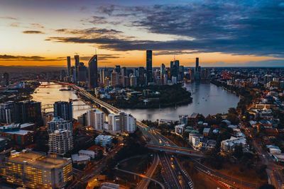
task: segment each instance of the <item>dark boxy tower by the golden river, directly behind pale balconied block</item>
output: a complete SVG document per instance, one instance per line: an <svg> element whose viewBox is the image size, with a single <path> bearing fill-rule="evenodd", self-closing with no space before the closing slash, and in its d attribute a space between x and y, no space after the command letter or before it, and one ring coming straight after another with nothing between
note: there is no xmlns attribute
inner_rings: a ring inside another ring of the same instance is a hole
<svg viewBox="0 0 284 189"><path fill-rule="evenodd" d="M63 120L73 119L73 110L71 102L58 101L53 104L54 117L62 118Z"/></svg>

